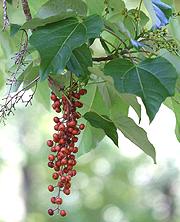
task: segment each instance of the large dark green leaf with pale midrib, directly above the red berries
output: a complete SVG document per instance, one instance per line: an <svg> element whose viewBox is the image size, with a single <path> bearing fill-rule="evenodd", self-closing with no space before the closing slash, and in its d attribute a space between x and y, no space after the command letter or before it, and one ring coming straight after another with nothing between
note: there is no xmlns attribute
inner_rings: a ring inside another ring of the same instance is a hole
<svg viewBox="0 0 180 222"><path fill-rule="evenodd" d="M86 27L76 18L65 19L34 31L30 44L39 51L41 57L41 80L46 79L50 73L63 72L72 51L86 40Z"/></svg>

